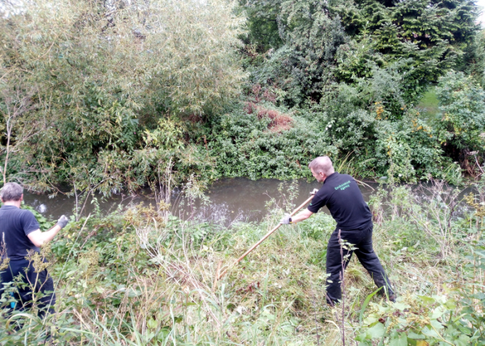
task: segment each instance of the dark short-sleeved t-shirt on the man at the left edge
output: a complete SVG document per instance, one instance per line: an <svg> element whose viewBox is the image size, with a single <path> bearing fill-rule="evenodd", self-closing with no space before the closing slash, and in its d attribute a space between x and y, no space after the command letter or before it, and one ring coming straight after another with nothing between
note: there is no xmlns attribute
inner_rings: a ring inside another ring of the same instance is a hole
<svg viewBox="0 0 485 346"><path fill-rule="evenodd" d="M30 210L19 209L16 206L0 208L0 246L3 246L3 242L6 243L10 260L24 259L30 249L39 251L27 237L39 228L39 223Z"/></svg>

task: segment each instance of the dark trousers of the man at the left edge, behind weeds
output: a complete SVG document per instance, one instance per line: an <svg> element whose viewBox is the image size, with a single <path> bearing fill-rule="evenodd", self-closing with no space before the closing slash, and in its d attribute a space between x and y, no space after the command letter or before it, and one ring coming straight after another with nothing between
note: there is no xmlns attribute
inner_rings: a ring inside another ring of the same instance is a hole
<svg viewBox="0 0 485 346"><path fill-rule="evenodd" d="M18 284L15 286L14 298L17 300L15 310L24 311L30 309L33 303L33 289L35 293L42 292L40 298L36 301L39 308L39 317L44 317L46 309L53 313L55 304L54 282L47 270L35 273L35 268L28 265L28 260L10 260L10 267L0 273L0 296L4 291L3 284L13 282L14 277L19 274L25 285Z"/></svg>

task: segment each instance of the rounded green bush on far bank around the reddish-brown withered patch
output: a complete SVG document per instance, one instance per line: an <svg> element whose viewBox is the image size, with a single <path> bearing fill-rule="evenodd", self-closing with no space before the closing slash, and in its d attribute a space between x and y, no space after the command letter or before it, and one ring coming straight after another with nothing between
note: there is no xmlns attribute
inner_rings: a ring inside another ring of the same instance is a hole
<svg viewBox="0 0 485 346"><path fill-rule="evenodd" d="M309 161L316 156L337 154L329 144L328 134L319 131L317 120L306 120L295 111L285 115L293 119L291 125L274 127L274 120L267 114L280 113L283 117L285 110L271 110L269 104L258 104L253 112L243 104L238 106L220 117L208 137L220 176L310 178L306 167Z"/></svg>

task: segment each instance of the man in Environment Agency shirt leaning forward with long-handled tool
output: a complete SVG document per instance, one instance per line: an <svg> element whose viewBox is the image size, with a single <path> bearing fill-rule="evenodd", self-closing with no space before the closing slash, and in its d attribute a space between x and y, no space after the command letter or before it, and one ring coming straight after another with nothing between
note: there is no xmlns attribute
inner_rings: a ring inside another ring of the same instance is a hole
<svg viewBox="0 0 485 346"><path fill-rule="evenodd" d="M389 278L380 264L379 258L372 248L372 214L369 206L362 197L355 179L348 174L335 172L332 161L328 156L315 158L308 165L313 176L319 183L324 183L320 190L315 193L312 203L306 210L299 212L294 217L289 214L281 219L281 224L294 224L308 219L324 206L330 210L330 215L337 221L337 228L330 235L326 255L327 278L327 302L334 305L342 299L340 277L342 273L342 255L340 254L340 238L352 244L355 250L344 249L344 268L349 264L353 253L357 255L362 266L367 269L380 291L387 294L389 300L394 301L394 291L391 288Z"/></svg>

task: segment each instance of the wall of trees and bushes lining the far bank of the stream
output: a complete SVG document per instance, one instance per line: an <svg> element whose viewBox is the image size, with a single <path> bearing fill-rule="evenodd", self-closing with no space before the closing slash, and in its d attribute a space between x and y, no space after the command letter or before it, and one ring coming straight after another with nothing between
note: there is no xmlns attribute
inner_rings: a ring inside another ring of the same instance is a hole
<svg viewBox="0 0 485 346"><path fill-rule="evenodd" d="M79 199L157 181L304 177L322 154L373 179L482 174L473 1L9 4L3 181ZM430 86L433 115L415 106Z"/></svg>

